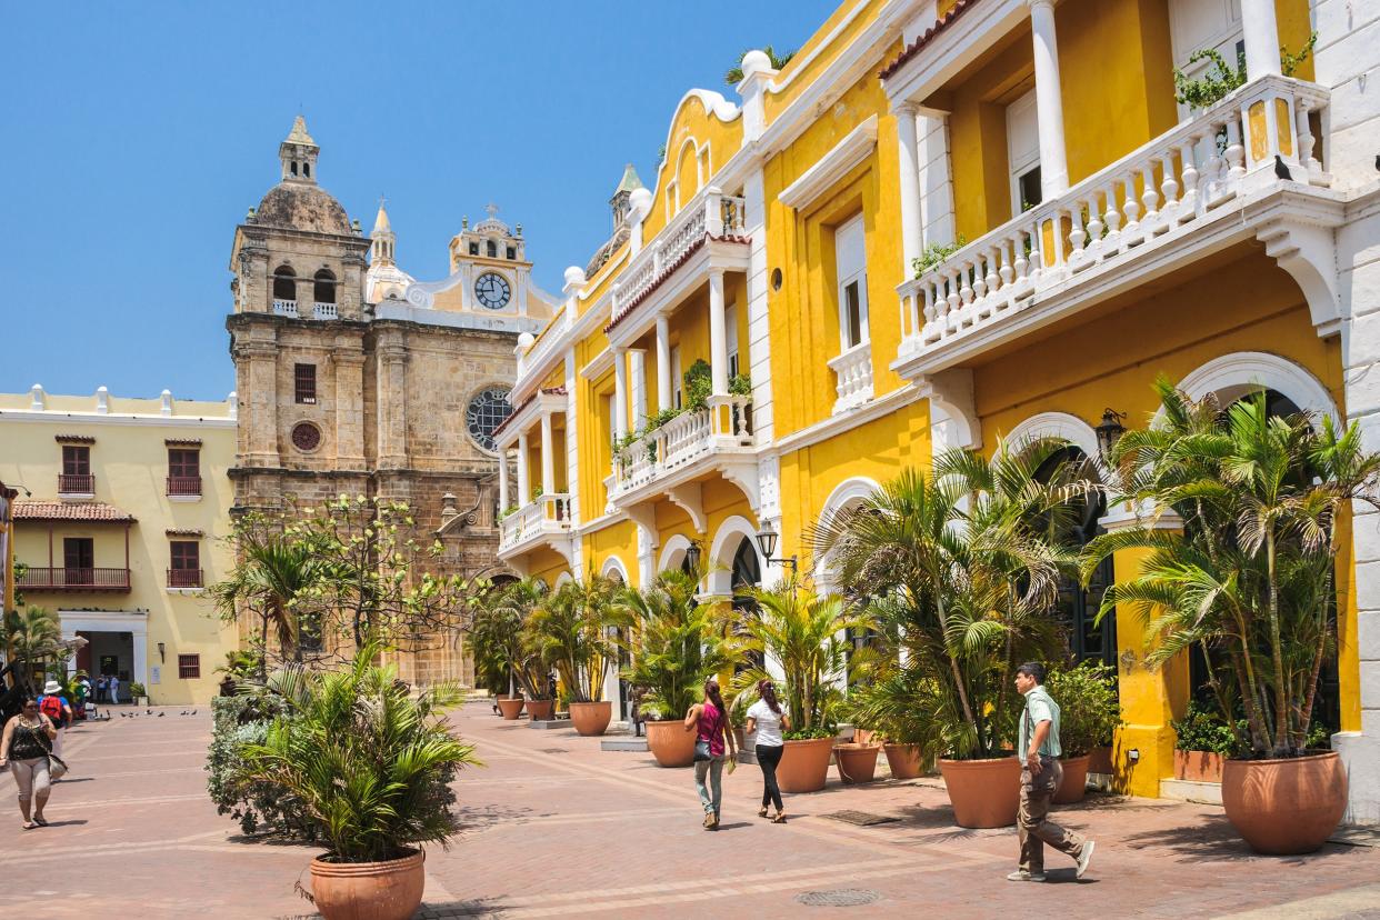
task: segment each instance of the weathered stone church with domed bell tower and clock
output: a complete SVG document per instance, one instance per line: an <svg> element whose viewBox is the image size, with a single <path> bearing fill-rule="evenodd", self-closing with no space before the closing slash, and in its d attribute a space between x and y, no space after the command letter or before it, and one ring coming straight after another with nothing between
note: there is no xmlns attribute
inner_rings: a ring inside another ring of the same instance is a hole
<svg viewBox="0 0 1380 920"><path fill-rule="evenodd" d="M298 117L279 183L235 229L235 510L341 492L406 501L447 572L501 574L491 434L511 412L518 337L555 298L531 284L522 229L493 210L450 241L447 279L414 281L382 204L366 239L317 183L319 153ZM404 679L468 681L458 640L404 657Z"/></svg>

